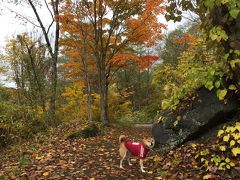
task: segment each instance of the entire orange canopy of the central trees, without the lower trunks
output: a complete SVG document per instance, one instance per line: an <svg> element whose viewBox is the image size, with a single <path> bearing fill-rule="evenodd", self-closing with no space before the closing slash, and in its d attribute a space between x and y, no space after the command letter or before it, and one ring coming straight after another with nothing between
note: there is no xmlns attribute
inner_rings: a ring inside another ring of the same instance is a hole
<svg viewBox="0 0 240 180"><path fill-rule="evenodd" d="M99 6L100 2L102 6ZM158 15L165 12L164 2L165 0L96 0L95 8L98 19L96 23L104 27L102 34L99 34L103 37L101 43L103 45L109 43L103 46L107 47L106 52L104 52L107 68L110 66L126 68L128 62L132 62L137 64L139 69L146 69L158 59L155 56L139 57L126 50L128 49L126 47L132 44L149 47L163 38L161 31L165 26L158 21ZM63 52L70 57L68 64L63 65L63 69L69 71L66 77L76 76L76 73L79 73L79 69L83 66L81 60L86 59L90 71L97 72L93 56L94 50L96 50L94 49L96 48L94 46L95 29L91 23L91 19L94 18L94 6L92 1L88 2L89 8L83 4L74 4L71 0L65 0L60 15L61 31L64 34L61 45ZM107 7L106 12L100 15L99 7L104 6ZM136 14L133 13L129 16L129 13L134 12L135 9ZM118 14L114 18L109 12ZM100 16L102 19L99 18ZM99 51L103 50L103 47L99 47ZM117 51L115 51L116 49ZM99 55L102 57L101 52Z"/></svg>

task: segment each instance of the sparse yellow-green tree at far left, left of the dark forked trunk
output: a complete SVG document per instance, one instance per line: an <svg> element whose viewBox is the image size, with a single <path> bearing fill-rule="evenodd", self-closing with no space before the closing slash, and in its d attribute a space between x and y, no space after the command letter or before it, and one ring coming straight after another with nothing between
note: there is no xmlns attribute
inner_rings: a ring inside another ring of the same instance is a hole
<svg viewBox="0 0 240 180"><path fill-rule="evenodd" d="M19 103L35 109L40 106L45 112L49 58L41 39L34 40L26 33L18 35L9 40L2 58L10 65Z"/></svg>

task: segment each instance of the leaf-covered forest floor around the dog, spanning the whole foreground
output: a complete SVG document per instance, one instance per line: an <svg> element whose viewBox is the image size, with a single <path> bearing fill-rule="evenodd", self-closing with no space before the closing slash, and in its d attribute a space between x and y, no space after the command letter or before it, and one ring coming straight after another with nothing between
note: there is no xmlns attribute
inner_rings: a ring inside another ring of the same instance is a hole
<svg viewBox="0 0 240 180"><path fill-rule="evenodd" d="M0 179L231 179L228 174L209 174L199 167L194 158L199 146L190 143L164 155L151 151L144 162L146 173L140 171L134 157L132 166L125 162L125 169L120 169L119 135L140 141L151 134L149 128L107 128L97 137L64 140L77 127L62 127L2 152Z"/></svg>

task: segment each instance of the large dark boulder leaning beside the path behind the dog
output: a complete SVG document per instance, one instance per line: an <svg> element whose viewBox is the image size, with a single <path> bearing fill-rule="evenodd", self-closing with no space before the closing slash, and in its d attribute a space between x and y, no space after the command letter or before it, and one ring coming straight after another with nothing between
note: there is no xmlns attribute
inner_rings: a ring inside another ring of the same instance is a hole
<svg viewBox="0 0 240 180"><path fill-rule="evenodd" d="M237 98L220 101L214 91L200 88L187 108L167 112L153 124L156 146L161 152L170 150L230 120L238 108Z"/></svg>

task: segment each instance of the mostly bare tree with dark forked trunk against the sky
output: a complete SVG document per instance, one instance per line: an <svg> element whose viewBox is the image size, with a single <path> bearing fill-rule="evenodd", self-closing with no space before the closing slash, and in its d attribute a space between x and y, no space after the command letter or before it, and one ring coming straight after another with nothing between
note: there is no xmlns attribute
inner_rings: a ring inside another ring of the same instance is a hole
<svg viewBox="0 0 240 180"><path fill-rule="evenodd" d="M20 13L11 10L11 12L15 13L18 17L26 22L32 23L33 26L40 28L46 42L46 46L48 49L48 53L50 55L50 91L49 91L49 108L48 108L48 116L47 123L54 124L55 123L55 110L56 110L56 93L57 93L57 62L58 62L58 54L59 54L59 5L60 0L7 0L8 3L14 3L16 5L27 5L30 6L34 16L36 18L36 22L32 20L32 18L28 18L22 16ZM51 21L49 25L44 22L43 17L40 16L39 10L41 7L46 7L49 12L49 20ZM53 37L52 37L53 36Z"/></svg>

